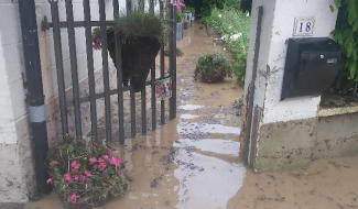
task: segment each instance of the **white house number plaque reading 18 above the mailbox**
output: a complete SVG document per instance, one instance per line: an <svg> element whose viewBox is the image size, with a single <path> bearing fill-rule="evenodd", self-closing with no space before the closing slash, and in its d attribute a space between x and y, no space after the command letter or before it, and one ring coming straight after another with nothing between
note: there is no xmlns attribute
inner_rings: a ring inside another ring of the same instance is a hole
<svg viewBox="0 0 358 209"><path fill-rule="evenodd" d="M313 36L315 18L295 18L293 36Z"/></svg>

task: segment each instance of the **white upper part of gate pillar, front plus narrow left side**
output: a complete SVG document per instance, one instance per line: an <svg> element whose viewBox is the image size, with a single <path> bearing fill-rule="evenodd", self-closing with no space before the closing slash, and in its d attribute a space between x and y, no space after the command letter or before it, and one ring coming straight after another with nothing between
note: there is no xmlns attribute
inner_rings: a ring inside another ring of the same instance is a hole
<svg viewBox="0 0 358 209"><path fill-rule="evenodd" d="M295 18L315 18L313 37L328 36L335 28L337 10L330 11L334 0L253 0L249 57L245 92L251 80L253 65L257 9L263 6L261 47L256 81L254 106L263 108L262 123L285 122L315 118L321 97L280 101L286 40L293 37Z"/></svg>

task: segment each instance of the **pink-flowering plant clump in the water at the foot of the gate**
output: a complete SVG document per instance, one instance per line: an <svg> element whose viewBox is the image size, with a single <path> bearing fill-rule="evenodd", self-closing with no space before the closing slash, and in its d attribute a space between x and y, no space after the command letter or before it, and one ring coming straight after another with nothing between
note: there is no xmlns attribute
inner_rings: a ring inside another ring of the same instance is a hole
<svg viewBox="0 0 358 209"><path fill-rule="evenodd" d="M65 204L96 206L127 191L123 164L109 145L64 139L48 151L47 162L47 183Z"/></svg>

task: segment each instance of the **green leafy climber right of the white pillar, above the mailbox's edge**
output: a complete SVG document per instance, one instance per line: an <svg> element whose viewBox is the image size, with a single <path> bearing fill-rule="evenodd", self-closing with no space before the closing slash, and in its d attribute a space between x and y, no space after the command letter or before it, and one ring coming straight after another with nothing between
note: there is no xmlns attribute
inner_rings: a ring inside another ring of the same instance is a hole
<svg viewBox="0 0 358 209"><path fill-rule="evenodd" d="M338 18L335 30L332 32L334 40L341 46L345 67L350 80L358 81L358 1L335 0ZM334 6L330 6L334 11Z"/></svg>

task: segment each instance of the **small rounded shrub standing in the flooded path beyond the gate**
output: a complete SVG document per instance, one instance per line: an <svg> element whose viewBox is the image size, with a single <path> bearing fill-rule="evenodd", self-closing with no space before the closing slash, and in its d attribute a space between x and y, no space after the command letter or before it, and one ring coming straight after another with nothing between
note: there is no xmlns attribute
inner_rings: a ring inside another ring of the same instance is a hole
<svg viewBox="0 0 358 209"><path fill-rule="evenodd" d="M219 82L231 77L232 70L221 54L207 54L198 59L194 76L204 82Z"/></svg>

